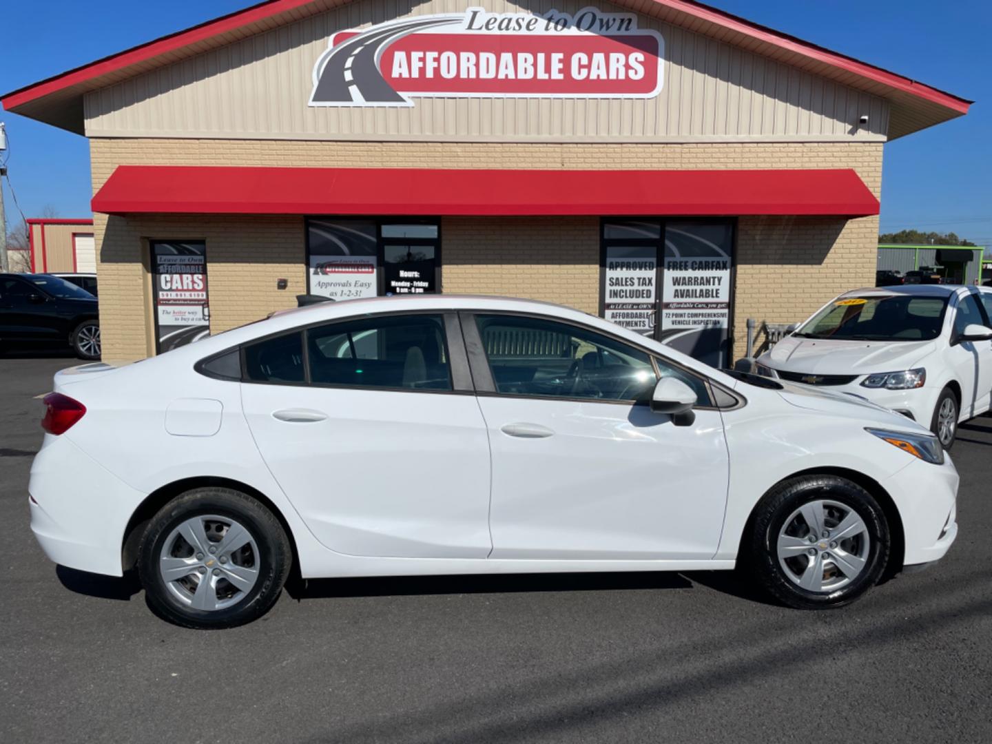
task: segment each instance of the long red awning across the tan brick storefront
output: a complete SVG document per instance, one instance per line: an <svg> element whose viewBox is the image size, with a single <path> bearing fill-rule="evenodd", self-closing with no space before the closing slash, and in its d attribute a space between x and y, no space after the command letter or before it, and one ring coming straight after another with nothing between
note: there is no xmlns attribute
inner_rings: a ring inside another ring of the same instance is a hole
<svg viewBox="0 0 992 744"><path fill-rule="evenodd" d="M878 214L851 170L495 171L120 166L107 214Z"/></svg>

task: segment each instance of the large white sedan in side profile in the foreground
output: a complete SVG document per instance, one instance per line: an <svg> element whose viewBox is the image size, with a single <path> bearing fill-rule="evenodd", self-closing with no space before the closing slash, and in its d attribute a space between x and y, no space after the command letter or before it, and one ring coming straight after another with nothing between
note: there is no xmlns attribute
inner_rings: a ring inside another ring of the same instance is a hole
<svg viewBox="0 0 992 744"><path fill-rule="evenodd" d="M160 615L249 622L303 577L745 567L798 608L941 558L939 440L576 310L322 304L59 373L31 469L49 558Z"/></svg>

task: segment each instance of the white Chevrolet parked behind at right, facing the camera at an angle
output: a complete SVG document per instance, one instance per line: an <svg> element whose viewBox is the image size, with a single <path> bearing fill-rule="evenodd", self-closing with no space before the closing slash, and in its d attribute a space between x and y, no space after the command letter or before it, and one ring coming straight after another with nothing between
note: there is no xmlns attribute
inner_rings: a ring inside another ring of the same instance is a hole
<svg viewBox="0 0 992 744"><path fill-rule="evenodd" d="M954 442L992 404L992 288L909 285L848 292L758 363L781 380L867 398Z"/></svg>

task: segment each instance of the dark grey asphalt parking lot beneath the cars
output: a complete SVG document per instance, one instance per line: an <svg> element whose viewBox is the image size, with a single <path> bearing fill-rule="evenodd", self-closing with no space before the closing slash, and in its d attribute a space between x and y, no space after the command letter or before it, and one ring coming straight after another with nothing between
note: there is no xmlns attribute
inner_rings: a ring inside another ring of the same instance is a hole
<svg viewBox="0 0 992 744"><path fill-rule="evenodd" d="M347 579L197 632L31 535L36 397L74 363L0 358L0 741L992 740L992 418L947 558L849 608L719 573Z"/></svg>

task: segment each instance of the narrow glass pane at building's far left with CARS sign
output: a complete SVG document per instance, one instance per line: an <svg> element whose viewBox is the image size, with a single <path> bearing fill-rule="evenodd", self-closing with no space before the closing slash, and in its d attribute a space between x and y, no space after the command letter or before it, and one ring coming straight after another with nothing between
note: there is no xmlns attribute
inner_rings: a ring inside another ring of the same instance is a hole
<svg viewBox="0 0 992 744"><path fill-rule="evenodd" d="M206 245L154 242L152 271L159 353L209 335Z"/></svg>

